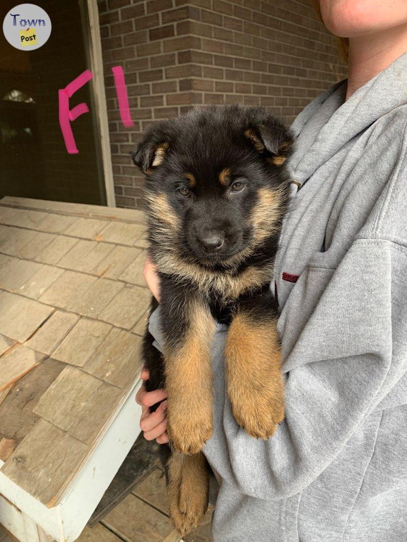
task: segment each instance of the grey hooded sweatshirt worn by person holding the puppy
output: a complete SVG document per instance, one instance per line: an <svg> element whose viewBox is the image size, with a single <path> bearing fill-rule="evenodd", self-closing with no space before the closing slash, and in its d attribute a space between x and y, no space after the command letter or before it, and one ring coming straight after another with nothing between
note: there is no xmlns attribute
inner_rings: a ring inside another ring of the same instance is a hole
<svg viewBox="0 0 407 542"><path fill-rule="evenodd" d="M302 188L275 265L286 419L268 441L232 416L218 326L216 542L407 540L407 54L345 93L292 127ZM160 347L159 309L150 330Z"/></svg>

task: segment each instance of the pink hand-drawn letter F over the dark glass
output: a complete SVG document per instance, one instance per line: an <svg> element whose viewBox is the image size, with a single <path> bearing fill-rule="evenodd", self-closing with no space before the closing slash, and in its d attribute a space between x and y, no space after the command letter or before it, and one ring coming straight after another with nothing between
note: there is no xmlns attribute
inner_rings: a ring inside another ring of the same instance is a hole
<svg viewBox="0 0 407 542"><path fill-rule="evenodd" d="M91 70L87 69L85 72L78 75L76 79L71 81L65 88L58 91L60 127L69 154L79 153L76 148L75 138L70 123L83 113L89 112L89 108L85 102L76 105L73 109L69 109L69 98L72 98L75 92L86 85L92 78L93 73Z"/></svg>

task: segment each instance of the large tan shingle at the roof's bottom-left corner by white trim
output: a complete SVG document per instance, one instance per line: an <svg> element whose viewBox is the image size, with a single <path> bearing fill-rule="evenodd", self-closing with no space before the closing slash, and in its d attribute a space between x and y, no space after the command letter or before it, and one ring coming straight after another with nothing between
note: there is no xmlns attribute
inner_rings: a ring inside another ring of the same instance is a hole
<svg viewBox="0 0 407 542"><path fill-rule="evenodd" d="M87 450L86 444L41 418L1 471L35 499L53 507Z"/></svg>

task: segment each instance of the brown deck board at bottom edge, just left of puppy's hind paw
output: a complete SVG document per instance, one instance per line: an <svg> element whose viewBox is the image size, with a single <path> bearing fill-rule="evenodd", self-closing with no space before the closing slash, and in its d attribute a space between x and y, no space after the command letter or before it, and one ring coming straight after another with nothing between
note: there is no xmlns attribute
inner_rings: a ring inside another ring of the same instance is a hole
<svg viewBox="0 0 407 542"><path fill-rule="evenodd" d="M113 508L101 523L132 542L163 542L173 534L172 525L166 515L132 494L127 495Z"/></svg>

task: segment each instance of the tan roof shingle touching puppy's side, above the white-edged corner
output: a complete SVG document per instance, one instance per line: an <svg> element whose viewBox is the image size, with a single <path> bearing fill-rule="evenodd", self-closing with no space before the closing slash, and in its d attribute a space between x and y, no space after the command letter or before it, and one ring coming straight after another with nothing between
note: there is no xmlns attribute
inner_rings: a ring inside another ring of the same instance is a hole
<svg viewBox="0 0 407 542"><path fill-rule="evenodd" d="M140 343L138 335L114 327L83 369L109 384L124 388L140 375Z"/></svg>

